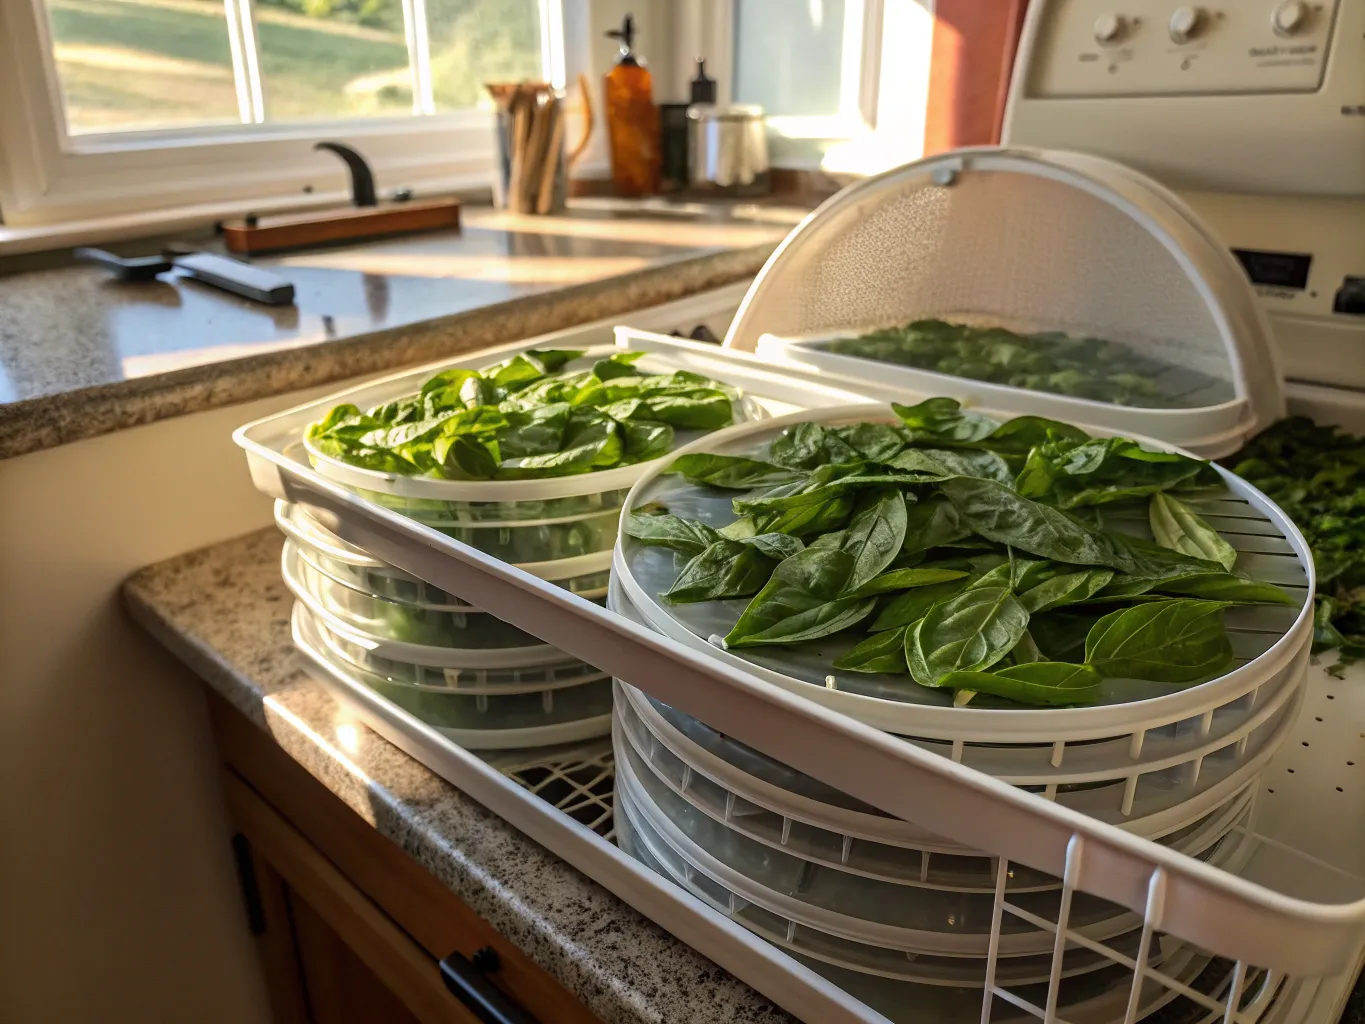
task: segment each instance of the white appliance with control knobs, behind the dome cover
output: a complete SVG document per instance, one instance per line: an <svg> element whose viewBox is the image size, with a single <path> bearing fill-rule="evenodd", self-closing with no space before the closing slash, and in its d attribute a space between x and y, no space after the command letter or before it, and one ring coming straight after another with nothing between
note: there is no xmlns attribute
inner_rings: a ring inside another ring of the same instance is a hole
<svg viewBox="0 0 1365 1024"><path fill-rule="evenodd" d="M1005 142L1177 190L1256 285L1290 410L1365 429L1365 0L1033 0Z"/></svg>

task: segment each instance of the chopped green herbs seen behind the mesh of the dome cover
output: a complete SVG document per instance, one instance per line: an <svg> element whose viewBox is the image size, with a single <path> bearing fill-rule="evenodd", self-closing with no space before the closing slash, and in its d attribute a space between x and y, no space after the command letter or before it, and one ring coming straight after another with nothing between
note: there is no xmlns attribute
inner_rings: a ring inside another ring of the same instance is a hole
<svg viewBox="0 0 1365 1024"><path fill-rule="evenodd" d="M1127 345L1061 332L1017 335L942 319L838 339L827 351L1010 388L1147 408L1201 404L1212 377L1138 355Z"/></svg>

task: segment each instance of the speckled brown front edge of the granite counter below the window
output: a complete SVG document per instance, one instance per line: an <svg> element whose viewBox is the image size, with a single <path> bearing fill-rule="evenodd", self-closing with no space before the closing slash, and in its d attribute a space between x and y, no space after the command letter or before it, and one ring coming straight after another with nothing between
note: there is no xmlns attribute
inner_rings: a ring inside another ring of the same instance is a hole
<svg viewBox="0 0 1365 1024"><path fill-rule="evenodd" d="M0 459L673 302L752 277L775 244L704 253L367 335L0 404Z"/></svg>

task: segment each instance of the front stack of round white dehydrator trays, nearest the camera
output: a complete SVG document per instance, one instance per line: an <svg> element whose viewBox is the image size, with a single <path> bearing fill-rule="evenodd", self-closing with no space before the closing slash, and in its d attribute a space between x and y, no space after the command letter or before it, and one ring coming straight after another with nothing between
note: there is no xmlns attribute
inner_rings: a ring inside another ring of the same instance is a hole
<svg viewBox="0 0 1365 1024"><path fill-rule="evenodd" d="M897 422L890 408L822 410L719 431L678 455L767 460L768 445L799 423L870 421ZM642 478L627 513L667 508L717 530L736 519L733 490L691 483L665 468ZM920 687L908 676L831 668L853 643L846 634L726 650L718 639L747 599L663 601L687 558L625 534L610 606L921 750L1235 872L1248 855L1239 830L1252 793L1299 709L1312 602L1302 537L1252 487L1230 474L1223 482L1196 502L1198 509L1239 549L1241 571L1287 587L1294 603L1230 609L1237 665L1198 685L1115 679L1106 680L1091 707L960 707L953 691ZM1115 513L1106 526L1151 539L1141 519ZM927 1005L945 1020L961 1017L966 1006L979 1009L992 945L1001 957L998 983L1020 998L1047 982L1054 935L1037 922L1057 920L1059 878L1013 872L1005 892L1026 916L1007 922L992 943L996 868L988 855L878 816L633 687L618 687L616 715L617 833L627 848L893 1020L910 1020ZM1069 913L1078 935L1136 954L1140 915L1084 894L1070 901ZM1223 984L1231 972L1228 964L1223 975L1209 973L1208 954L1171 941L1148 956L1185 984L1197 978ZM1112 967L1084 948L1070 950L1062 960L1061 1016L1122 1020L1129 993L1112 987L1114 976L1122 980ZM1173 990L1153 993L1138 1010L1153 1012L1173 997Z"/></svg>

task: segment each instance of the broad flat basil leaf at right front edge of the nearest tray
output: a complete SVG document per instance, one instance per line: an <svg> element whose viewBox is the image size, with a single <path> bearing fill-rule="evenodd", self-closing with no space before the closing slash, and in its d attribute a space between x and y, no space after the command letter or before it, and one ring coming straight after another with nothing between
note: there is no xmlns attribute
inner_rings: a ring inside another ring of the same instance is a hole
<svg viewBox="0 0 1365 1024"><path fill-rule="evenodd" d="M1085 638L1085 664L1108 679L1196 683L1233 664L1223 601L1156 601L1110 612Z"/></svg>

